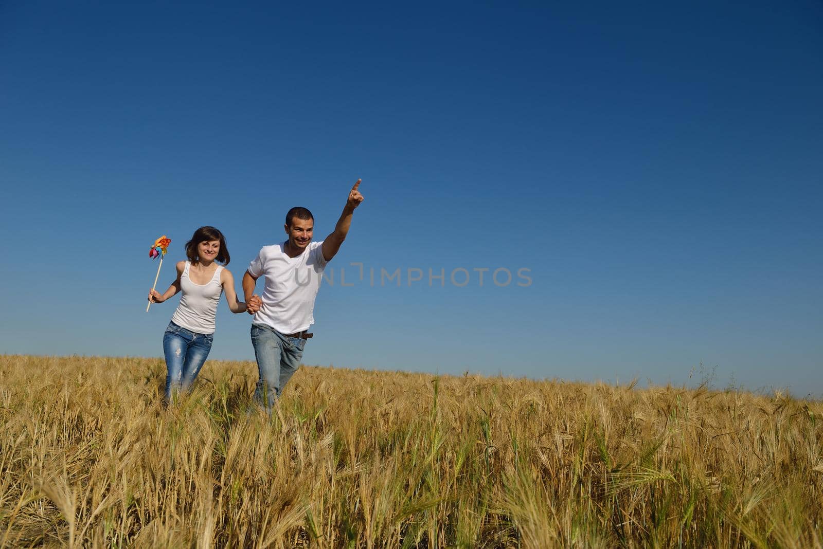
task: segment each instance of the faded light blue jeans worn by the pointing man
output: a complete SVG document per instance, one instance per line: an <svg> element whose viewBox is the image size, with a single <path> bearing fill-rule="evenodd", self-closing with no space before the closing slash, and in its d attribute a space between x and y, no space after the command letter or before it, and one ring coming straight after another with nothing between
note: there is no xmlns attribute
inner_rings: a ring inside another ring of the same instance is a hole
<svg viewBox="0 0 823 549"><path fill-rule="evenodd" d="M286 337L269 326L253 324L252 344L260 374L254 399L267 413L272 413L274 399L280 397L283 387L300 367L306 340Z"/></svg>

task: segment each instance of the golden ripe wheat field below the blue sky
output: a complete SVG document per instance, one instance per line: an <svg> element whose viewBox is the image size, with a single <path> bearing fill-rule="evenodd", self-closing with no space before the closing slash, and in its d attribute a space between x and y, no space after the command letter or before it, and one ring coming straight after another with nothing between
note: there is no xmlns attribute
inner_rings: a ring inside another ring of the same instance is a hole
<svg viewBox="0 0 823 549"><path fill-rule="evenodd" d="M0 357L4 547L821 547L823 405L704 388Z"/></svg>

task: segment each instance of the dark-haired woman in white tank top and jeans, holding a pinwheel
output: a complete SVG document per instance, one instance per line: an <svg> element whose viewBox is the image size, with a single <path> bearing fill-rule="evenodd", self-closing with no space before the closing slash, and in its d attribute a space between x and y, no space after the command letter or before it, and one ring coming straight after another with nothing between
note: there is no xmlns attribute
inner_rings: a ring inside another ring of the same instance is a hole
<svg viewBox="0 0 823 549"><path fill-rule="evenodd" d="M172 393L188 390L206 362L212 349L215 315L220 294L226 292L226 302L232 312L244 312L246 304L237 301L235 279L228 269L229 249L223 233L214 227L201 227L186 242L188 261L177 264L177 279L165 293L151 290L149 301L162 303L183 291L180 304L171 316L163 335L165 353L165 399Z"/></svg>

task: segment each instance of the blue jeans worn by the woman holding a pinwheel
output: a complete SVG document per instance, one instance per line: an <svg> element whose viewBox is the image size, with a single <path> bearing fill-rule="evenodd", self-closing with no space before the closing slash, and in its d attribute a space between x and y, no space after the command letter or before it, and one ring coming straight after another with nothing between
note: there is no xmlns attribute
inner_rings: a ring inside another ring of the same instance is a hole
<svg viewBox="0 0 823 549"><path fill-rule="evenodd" d="M214 334L198 334L170 322L163 334L165 353L165 399L188 390L197 378L208 352L212 350Z"/></svg>

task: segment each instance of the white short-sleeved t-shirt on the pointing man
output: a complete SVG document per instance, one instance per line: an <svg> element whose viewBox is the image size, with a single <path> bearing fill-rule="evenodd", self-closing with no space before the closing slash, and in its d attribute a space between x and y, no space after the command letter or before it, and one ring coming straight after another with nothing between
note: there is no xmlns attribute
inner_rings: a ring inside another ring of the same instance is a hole
<svg viewBox="0 0 823 549"><path fill-rule="evenodd" d="M249 274L266 277L263 307L252 324L267 325L281 334L294 334L314 324L314 298L320 289L323 269L323 242L309 242L300 256L289 257L286 242L264 246L249 264Z"/></svg>

